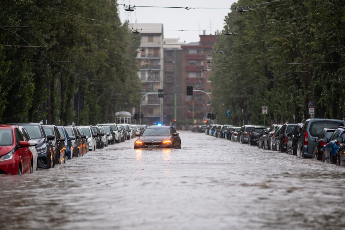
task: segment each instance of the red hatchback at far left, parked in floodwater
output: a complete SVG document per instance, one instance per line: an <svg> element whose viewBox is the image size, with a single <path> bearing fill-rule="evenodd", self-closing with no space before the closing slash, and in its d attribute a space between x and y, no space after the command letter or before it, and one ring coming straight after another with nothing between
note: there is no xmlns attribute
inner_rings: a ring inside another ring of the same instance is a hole
<svg viewBox="0 0 345 230"><path fill-rule="evenodd" d="M17 126L0 125L0 174L32 173L33 159L29 146Z"/></svg>

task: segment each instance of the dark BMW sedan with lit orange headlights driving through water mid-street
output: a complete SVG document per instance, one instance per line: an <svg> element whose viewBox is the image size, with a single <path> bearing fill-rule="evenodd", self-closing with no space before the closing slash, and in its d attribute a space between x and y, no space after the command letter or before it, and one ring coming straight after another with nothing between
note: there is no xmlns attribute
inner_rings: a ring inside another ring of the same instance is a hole
<svg viewBox="0 0 345 230"><path fill-rule="evenodd" d="M137 134L136 136L139 136ZM149 126L134 142L134 148L181 148L181 138L171 126Z"/></svg>

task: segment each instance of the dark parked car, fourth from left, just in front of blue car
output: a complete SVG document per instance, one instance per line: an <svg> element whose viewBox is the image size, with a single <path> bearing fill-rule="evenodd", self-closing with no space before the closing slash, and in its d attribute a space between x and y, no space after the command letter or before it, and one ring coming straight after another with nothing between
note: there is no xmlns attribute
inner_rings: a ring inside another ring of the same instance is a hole
<svg viewBox="0 0 345 230"><path fill-rule="evenodd" d="M42 125L46 134L53 135L55 138L51 141L53 144L54 163L61 164L66 162L65 138L60 136L58 128L53 124Z"/></svg>

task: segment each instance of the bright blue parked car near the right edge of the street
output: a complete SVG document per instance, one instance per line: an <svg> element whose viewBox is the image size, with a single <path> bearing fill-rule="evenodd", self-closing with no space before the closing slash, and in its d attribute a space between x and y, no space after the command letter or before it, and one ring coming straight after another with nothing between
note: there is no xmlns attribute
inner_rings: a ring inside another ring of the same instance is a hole
<svg viewBox="0 0 345 230"><path fill-rule="evenodd" d="M336 157L337 157L337 150L341 144L341 142L337 141L337 138L345 138L345 127L338 127L334 133L332 134L331 138L329 138L329 142L324 145L323 147L323 156L322 161L335 164ZM322 141L327 142L327 138L322 139Z"/></svg>

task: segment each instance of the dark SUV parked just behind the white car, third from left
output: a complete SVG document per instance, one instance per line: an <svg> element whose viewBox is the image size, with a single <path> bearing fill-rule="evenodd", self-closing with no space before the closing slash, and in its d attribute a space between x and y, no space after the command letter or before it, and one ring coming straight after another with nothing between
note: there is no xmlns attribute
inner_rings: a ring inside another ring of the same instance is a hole
<svg viewBox="0 0 345 230"><path fill-rule="evenodd" d="M47 135L40 123L18 123L28 131L31 140L37 142L36 151L38 154L38 169L54 167L53 160L53 135Z"/></svg>

